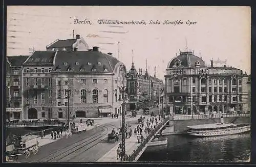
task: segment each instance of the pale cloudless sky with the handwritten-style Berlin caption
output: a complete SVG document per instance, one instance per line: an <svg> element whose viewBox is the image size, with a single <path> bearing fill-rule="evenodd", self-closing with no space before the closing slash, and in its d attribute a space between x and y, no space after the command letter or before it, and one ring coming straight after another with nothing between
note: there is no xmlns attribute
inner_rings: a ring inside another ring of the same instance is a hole
<svg viewBox="0 0 256 167"><path fill-rule="evenodd" d="M75 24L74 19L91 24ZM99 24L100 19L146 24ZM150 24L151 20L160 24ZM165 20L183 23L163 24ZM227 60L226 65L250 74L250 25L249 7L8 6L7 55L29 55L31 47L46 50L56 39L73 38L74 31L74 37L79 34L91 48L99 46L117 59L119 48L127 70L134 50L135 68L145 70L147 60L148 72L154 75L156 66L160 79L168 62L186 47L206 64Z"/></svg>

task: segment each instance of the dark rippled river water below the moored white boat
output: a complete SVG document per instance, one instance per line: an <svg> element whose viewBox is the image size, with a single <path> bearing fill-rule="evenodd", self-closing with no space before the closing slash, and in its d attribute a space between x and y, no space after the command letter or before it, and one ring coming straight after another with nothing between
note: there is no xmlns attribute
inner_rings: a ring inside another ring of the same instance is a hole
<svg viewBox="0 0 256 167"><path fill-rule="evenodd" d="M245 162L250 157L250 133L196 138L168 135L165 150L145 150L138 161Z"/></svg>

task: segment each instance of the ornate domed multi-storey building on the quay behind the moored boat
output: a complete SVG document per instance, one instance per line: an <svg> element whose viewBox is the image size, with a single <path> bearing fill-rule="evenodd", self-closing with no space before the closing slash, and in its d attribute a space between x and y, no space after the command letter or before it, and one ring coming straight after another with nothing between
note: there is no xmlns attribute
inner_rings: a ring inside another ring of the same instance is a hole
<svg viewBox="0 0 256 167"><path fill-rule="evenodd" d="M166 69L166 101L174 114L247 112L248 75L242 70L207 67L190 51L169 61Z"/></svg>

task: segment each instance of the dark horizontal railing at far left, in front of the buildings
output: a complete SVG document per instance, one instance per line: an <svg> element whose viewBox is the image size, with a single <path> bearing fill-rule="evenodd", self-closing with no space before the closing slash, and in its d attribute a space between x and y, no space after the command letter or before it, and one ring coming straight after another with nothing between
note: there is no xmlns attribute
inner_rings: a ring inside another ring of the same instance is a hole
<svg viewBox="0 0 256 167"><path fill-rule="evenodd" d="M7 122L7 127L62 126L62 122Z"/></svg>

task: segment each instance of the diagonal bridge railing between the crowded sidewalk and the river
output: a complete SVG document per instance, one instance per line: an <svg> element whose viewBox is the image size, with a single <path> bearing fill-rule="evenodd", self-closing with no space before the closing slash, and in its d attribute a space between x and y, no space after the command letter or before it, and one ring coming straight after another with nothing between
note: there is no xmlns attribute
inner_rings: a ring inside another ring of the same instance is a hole
<svg viewBox="0 0 256 167"><path fill-rule="evenodd" d="M169 120L169 117L164 119L164 123L166 123ZM139 145L139 147L134 151L132 155L129 156L127 161L134 161L135 158L139 155L139 153L143 150L143 148L146 146L146 144L151 140L154 134L163 126L163 122L161 122L155 129L153 129L150 134L147 135L147 137L143 140L143 142Z"/></svg>

